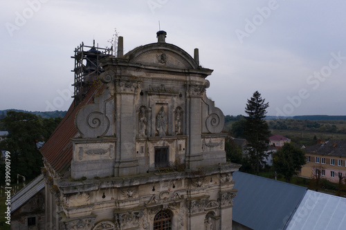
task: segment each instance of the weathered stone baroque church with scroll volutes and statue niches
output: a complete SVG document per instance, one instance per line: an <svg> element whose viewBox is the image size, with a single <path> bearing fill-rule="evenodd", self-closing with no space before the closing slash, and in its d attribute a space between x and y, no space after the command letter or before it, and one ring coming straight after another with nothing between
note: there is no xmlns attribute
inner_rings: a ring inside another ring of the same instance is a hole
<svg viewBox="0 0 346 230"><path fill-rule="evenodd" d="M165 37L127 54L119 37L116 56L75 50L74 103L40 149L44 229L232 229L240 165L206 96L212 70Z"/></svg>

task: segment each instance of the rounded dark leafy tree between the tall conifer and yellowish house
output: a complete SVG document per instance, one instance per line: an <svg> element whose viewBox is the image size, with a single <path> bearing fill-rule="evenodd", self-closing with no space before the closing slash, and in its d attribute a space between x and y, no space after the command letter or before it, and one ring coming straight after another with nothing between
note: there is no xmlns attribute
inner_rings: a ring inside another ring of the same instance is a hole
<svg viewBox="0 0 346 230"><path fill-rule="evenodd" d="M291 182L293 175L297 175L297 171L305 163L305 153L291 143L285 143L273 153L273 170L283 175L286 182Z"/></svg>

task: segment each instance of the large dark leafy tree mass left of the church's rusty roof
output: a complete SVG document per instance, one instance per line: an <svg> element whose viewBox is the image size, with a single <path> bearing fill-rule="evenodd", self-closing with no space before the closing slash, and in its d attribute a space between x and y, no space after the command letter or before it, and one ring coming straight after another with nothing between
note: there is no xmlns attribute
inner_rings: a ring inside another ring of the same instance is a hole
<svg viewBox="0 0 346 230"><path fill-rule="evenodd" d="M0 149L10 152L12 180L17 178L17 173L27 180L41 173L42 155L36 143L46 140L60 121L61 117L46 119L31 113L8 111L2 120L8 136L0 142ZM4 170L1 165L1 179L5 175Z"/></svg>

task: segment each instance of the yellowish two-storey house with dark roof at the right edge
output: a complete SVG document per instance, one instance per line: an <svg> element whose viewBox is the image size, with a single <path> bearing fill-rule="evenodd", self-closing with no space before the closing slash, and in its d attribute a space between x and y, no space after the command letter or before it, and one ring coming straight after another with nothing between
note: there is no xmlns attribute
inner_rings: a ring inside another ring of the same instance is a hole
<svg viewBox="0 0 346 230"><path fill-rule="evenodd" d="M302 166L301 176L313 178L320 170L321 178L338 182L339 177L346 176L346 141L329 140L304 148L307 164Z"/></svg>

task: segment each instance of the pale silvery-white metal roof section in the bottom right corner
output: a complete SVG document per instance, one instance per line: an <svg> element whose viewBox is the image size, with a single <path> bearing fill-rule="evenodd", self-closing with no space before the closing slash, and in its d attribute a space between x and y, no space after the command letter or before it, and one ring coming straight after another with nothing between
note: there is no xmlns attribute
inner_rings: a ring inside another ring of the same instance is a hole
<svg viewBox="0 0 346 230"><path fill-rule="evenodd" d="M346 229L346 198L307 191L286 230Z"/></svg>

